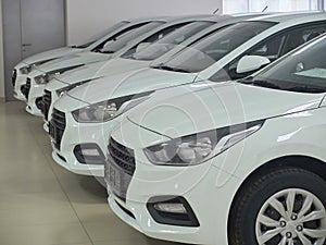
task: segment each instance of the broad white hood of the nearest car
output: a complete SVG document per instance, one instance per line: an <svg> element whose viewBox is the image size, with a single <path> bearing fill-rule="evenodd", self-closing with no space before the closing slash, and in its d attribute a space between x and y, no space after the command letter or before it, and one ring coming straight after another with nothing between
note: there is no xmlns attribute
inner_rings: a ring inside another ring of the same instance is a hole
<svg viewBox="0 0 326 245"><path fill-rule="evenodd" d="M158 91L125 117L141 127L176 138L317 108L323 96L234 82L201 82Z"/></svg>

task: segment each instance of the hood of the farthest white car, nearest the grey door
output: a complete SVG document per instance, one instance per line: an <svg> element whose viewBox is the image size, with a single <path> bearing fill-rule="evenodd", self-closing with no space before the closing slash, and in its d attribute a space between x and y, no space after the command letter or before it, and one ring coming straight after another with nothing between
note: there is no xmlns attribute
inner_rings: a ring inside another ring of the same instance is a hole
<svg viewBox="0 0 326 245"><path fill-rule="evenodd" d="M24 59L22 62L25 64L34 64L34 63L38 63L41 61L52 60L52 59L70 56L70 54L82 52L82 51L83 51L83 49L64 47L64 48L52 49L50 51L37 53L35 56Z"/></svg>

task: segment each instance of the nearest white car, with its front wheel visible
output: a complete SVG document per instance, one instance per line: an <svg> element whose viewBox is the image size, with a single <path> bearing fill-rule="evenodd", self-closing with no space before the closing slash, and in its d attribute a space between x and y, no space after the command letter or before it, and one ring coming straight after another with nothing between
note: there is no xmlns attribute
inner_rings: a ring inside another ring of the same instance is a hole
<svg viewBox="0 0 326 245"><path fill-rule="evenodd" d="M254 76L129 110L108 146L111 209L160 240L325 244L325 49L323 36Z"/></svg>

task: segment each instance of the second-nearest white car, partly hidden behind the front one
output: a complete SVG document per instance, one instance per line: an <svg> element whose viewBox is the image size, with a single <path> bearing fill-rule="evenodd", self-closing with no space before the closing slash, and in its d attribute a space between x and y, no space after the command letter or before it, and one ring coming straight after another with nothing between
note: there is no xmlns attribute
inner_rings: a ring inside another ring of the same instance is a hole
<svg viewBox="0 0 326 245"><path fill-rule="evenodd" d="M324 30L326 13L258 17L212 34L156 69L80 85L54 103L50 121L52 158L72 172L103 176L108 135L121 121L120 112L135 105L135 97L210 77L216 82L243 77L248 73L236 72L243 56L264 56L248 66L248 72L253 71L268 63L267 58L275 60Z"/></svg>

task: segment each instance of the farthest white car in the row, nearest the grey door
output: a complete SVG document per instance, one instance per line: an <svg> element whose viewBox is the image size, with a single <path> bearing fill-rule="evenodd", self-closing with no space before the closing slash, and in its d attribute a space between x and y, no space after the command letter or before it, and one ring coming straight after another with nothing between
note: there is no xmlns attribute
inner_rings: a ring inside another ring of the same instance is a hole
<svg viewBox="0 0 326 245"><path fill-rule="evenodd" d="M139 25L143 25L152 21L151 19L143 20L133 20L133 21L122 21L111 26L105 33L98 35L97 37L91 38L91 41L88 41L85 45L77 45L71 47L64 47L59 49L53 49L50 51L41 52L32 57L28 57L17 63L12 73L12 84L14 87L13 96L18 100L26 100L24 94L26 93L26 78L30 71L42 63L49 62L51 60L71 56L77 52L83 51L93 51L101 49L105 46L112 37L116 36L120 33L128 32L130 28L135 28Z"/></svg>

